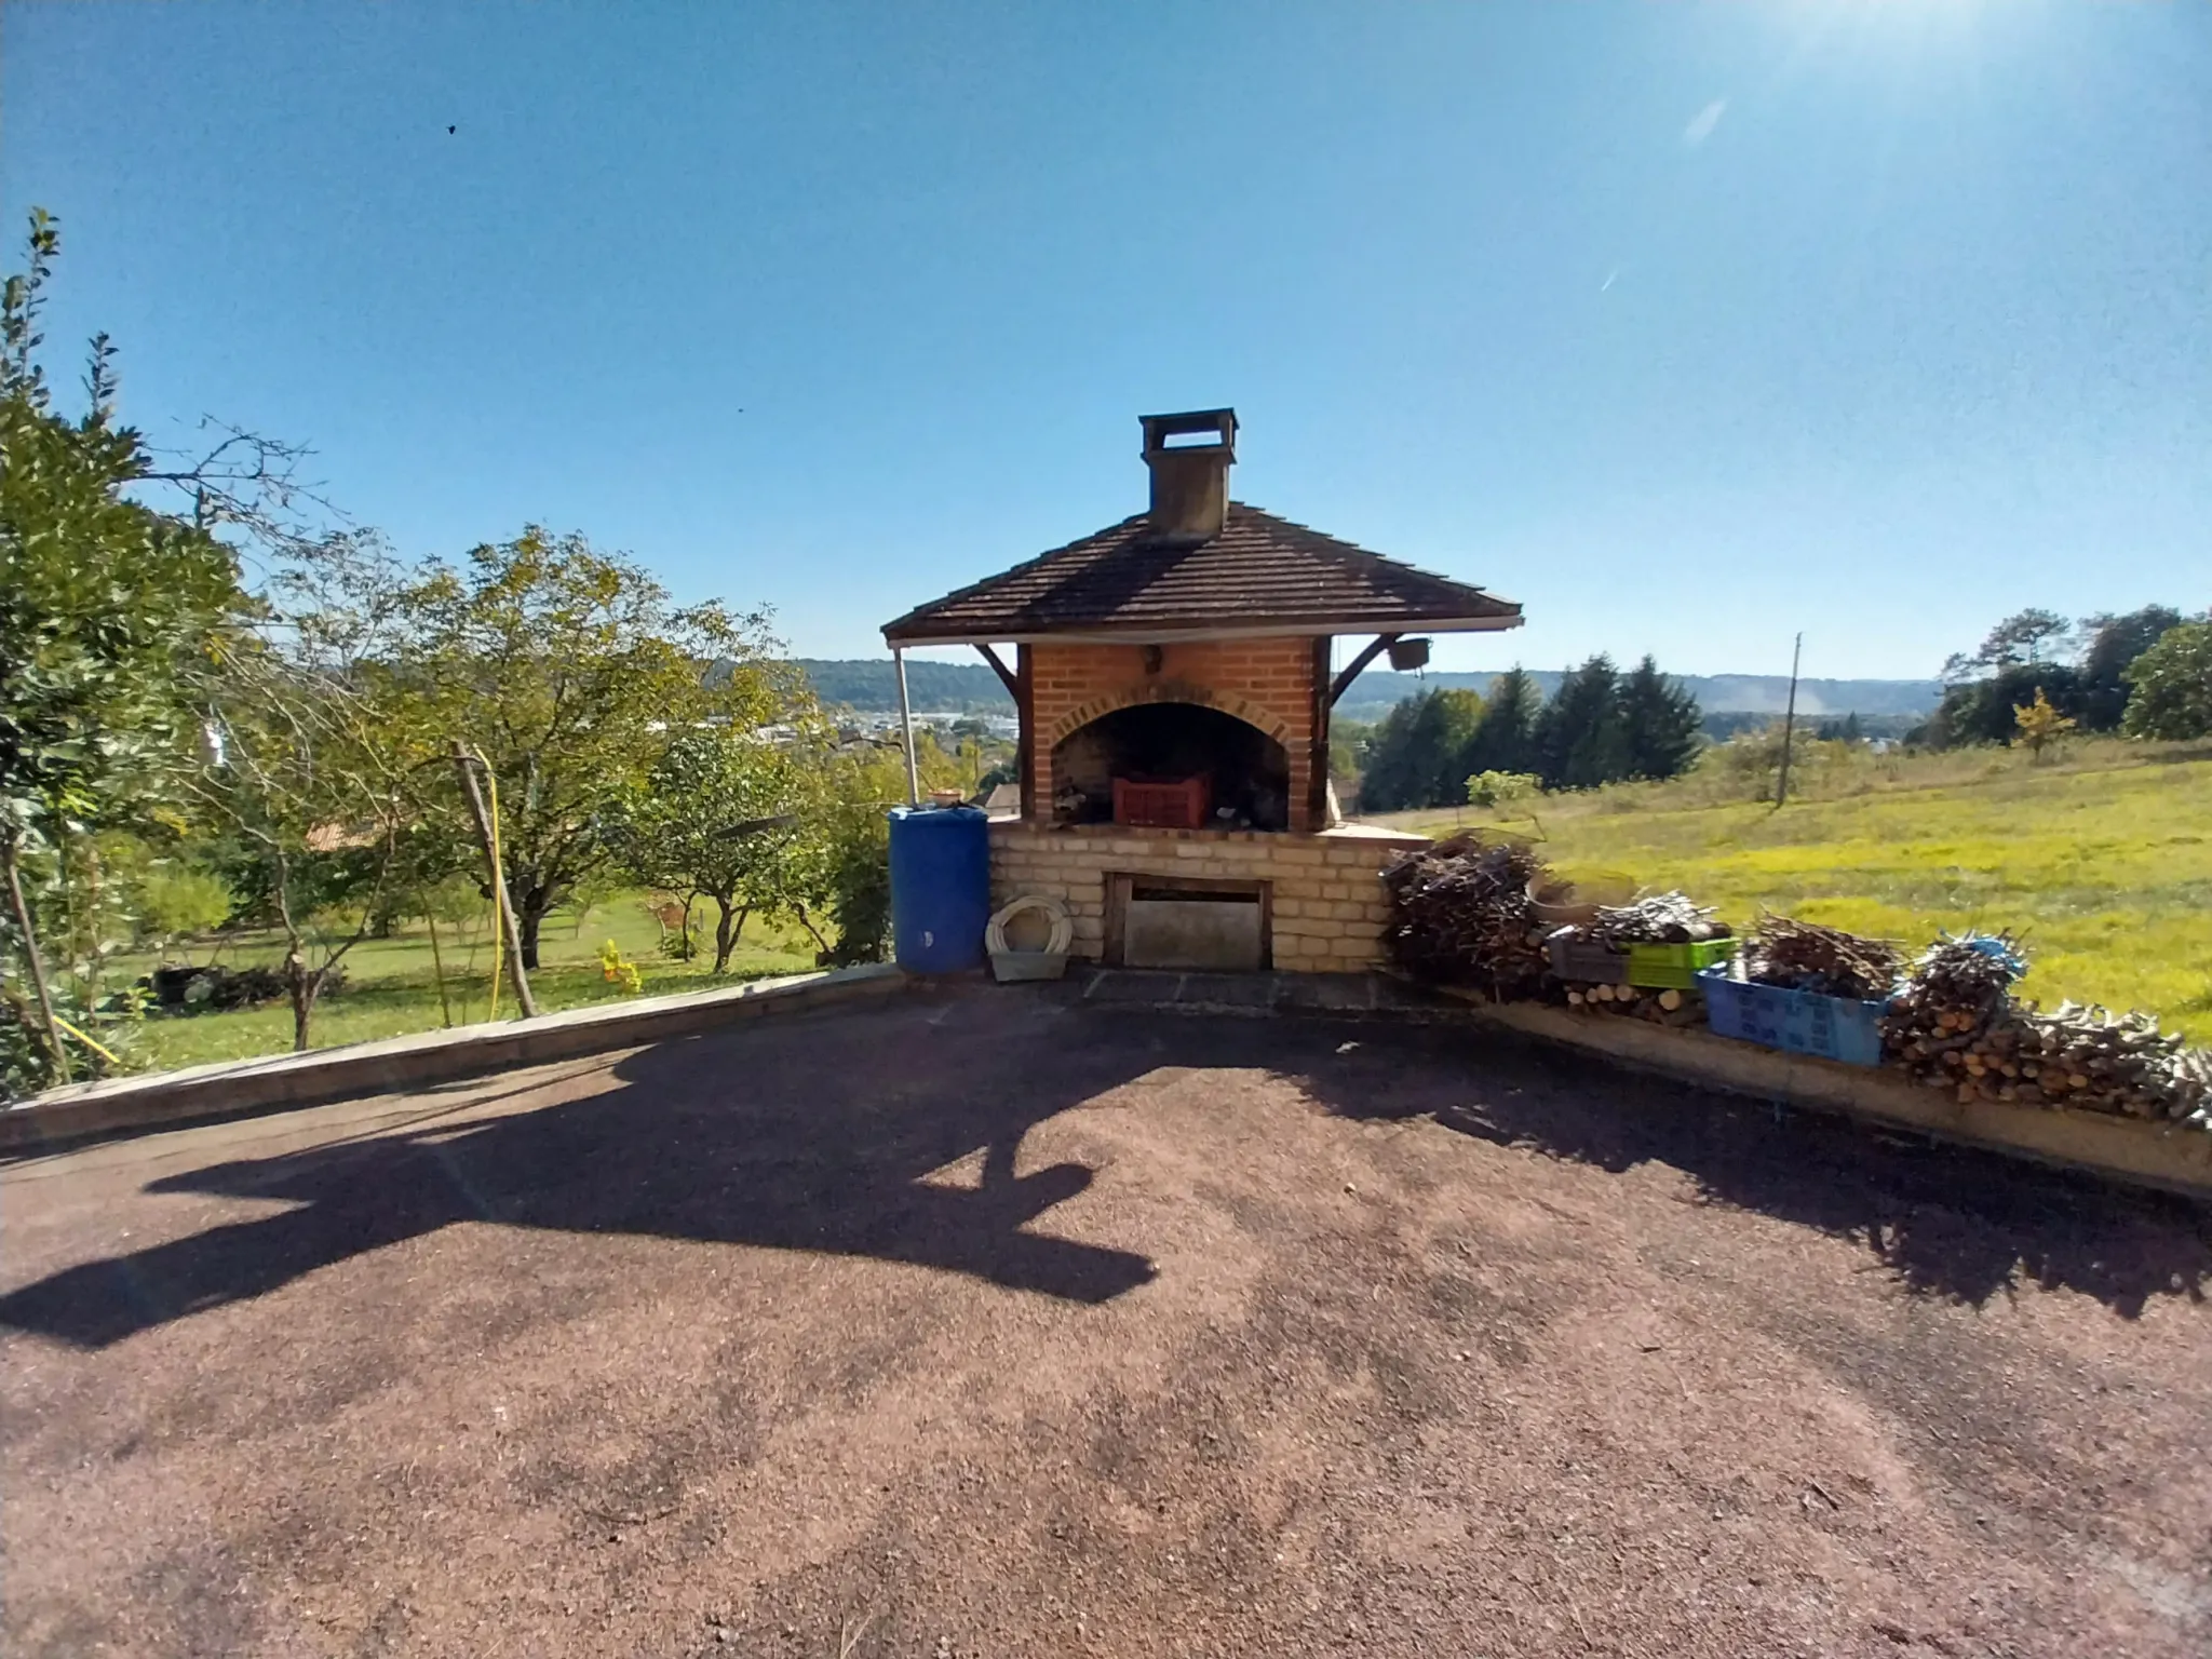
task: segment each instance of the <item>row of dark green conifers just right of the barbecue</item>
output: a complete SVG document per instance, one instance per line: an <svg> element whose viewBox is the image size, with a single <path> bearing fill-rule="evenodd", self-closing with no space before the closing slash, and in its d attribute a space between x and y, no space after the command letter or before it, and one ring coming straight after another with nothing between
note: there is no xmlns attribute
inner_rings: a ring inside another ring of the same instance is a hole
<svg viewBox="0 0 2212 1659"><path fill-rule="evenodd" d="M1356 757L1360 810L1455 805L1484 772L1535 776L1546 790L1670 779L1697 759L1701 721L1697 699L1650 657L1626 675L1590 657L1551 699L1513 668L1489 697L1449 688L1391 708Z"/></svg>

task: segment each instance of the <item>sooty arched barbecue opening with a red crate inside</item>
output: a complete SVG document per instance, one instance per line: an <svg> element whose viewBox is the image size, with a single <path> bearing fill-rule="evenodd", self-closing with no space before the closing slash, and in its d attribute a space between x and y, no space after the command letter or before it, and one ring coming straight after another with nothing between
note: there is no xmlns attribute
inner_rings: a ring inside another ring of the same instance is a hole
<svg viewBox="0 0 2212 1659"><path fill-rule="evenodd" d="M1053 750L1053 816L1157 830L1290 830L1290 757L1219 708L1117 708Z"/></svg>

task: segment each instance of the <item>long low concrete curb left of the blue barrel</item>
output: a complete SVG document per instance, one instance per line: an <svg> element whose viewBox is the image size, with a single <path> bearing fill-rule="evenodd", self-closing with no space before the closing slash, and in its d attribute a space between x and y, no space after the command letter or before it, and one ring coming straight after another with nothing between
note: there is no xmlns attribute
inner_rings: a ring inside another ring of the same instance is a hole
<svg viewBox="0 0 2212 1659"><path fill-rule="evenodd" d="M0 1110L0 1159L142 1128L217 1117L323 1106L394 1088L458 1082L515 1066L542 1066L608 1048L759 1018L889 995L914 984L887 962L752 980L717 991L679 991L633 1002L593 1004L535 1020L425 1031L407 1037L310 1048L303 1055L230 1060L97 1084L49 1088Z"/></svg>

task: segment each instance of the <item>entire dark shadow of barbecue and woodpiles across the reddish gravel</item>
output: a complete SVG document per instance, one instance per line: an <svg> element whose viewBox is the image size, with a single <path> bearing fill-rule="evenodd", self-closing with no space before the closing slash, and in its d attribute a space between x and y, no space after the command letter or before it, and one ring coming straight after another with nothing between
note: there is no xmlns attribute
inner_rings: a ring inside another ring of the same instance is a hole
<svg viewBox="0 0 2212 1659"><path fill-rule="evenodd" d="M1708 1203L1863 1243L1920 1294L1980 1305L2022 1283L2135 1318L2203 1301L2212 1212L1995 1155L1624 1073L1462 1026L1055 1009L1004 993L872 1020L646 1048L624 1084L493 1119L155 1181L290 1199L0 1296L0 1325L104 1347L456 1221L874 1256L1104 1303L1152 1263L1046 1232L1093 1170L1018 1177L1035 1124L1161 1066L1265 1071L1340 1117L1425 1117L1610 1172L1681 1170ZM1438 1159L1449 1157L1438 1141ZM982 1152L975 1186L922 1177ZM1444 1172L1442 1166L1438 1170Z"/></svg>

